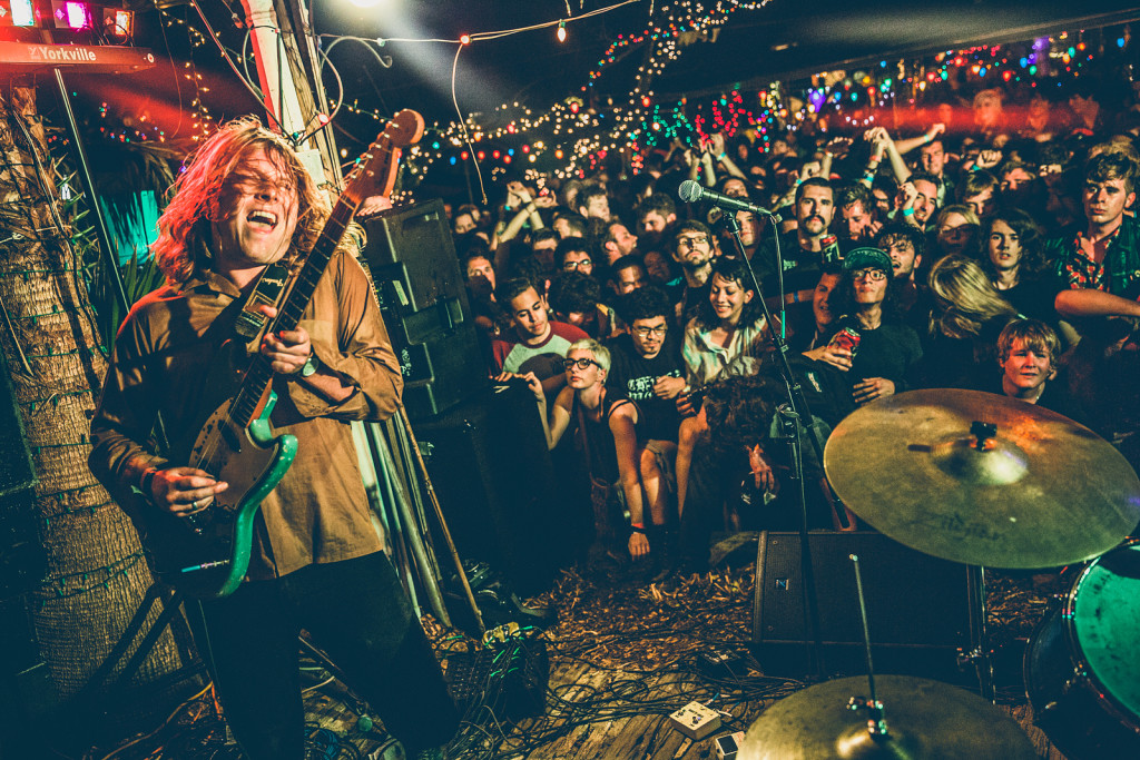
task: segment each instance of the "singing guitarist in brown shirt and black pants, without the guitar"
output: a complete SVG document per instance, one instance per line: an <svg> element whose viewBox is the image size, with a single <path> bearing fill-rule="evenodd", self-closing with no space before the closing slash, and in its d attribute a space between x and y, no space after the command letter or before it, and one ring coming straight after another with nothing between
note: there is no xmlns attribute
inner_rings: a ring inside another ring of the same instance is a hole
<svg viewBox="0 0 1140 760"><path fill-rule="evenodd" d="M234 374L222 344L235 337L244 300L268 264L311 248L331 211L291 146L252 117L211 137L174 189L154 245L166 284L120 328L91 425L91 469L142 532L149 517L192 515L228 488L158 449L156 412L172 441L193 440L217 406L207 403L217 387ZM296 436L298 457L261 502L244 582L202 602L209 640L199 646L251 760L304 754L302 628L408 757L442 757L438 745L457 725L431 646L381 550L357 469L349 420L391 416L402 381L349 240L298 328L254 341L275 373L270 422L276 434ZM245 349L243 338L234 344Z"/></svg>

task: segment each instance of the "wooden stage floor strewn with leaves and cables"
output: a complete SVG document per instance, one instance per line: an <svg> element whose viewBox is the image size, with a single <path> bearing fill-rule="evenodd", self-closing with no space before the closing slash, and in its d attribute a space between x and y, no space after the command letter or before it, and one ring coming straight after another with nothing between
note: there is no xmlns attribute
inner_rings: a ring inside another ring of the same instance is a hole
<svg viewBox="0 0 1140 760"><path fill-rule="evenodd" d="M666 583L638 579L627 565L618 563L563 570L549 591L528 600L556 608L557 622L519 645L520 657L522 648L534 652L543 646L548 655L548 689L538 697L542 714L526 717L529 703L518 702L518 692L497 681L498 693L492 686L486 698L477 700L469 709L450 757L715 758L711 737L690 741L671 727L669 713L700 701L720 711L724 727L714 733L719 736L746 730L765 708L805 686L788 678L765 677L748 648L755 585L755 563L747 558L748 538L738 537L744 550L732 553L717 570ZM755 537L751 546L755 557ZM990 580L990 622L999 649L999 708L1021 724L1041 758L1064 760L1032 725L1018 670L1024 643L1044 615L1058 581L1028 574L994 574ZM463 660L466 649L478 648L475 641L443 628L431 616L424 618L424 626L446 668ZM727 668L710 668L701 654L711 649L739 660ZM319 663L302 662L309 684L306 709L311 758L397 760L402 754L385 743L378 722L369 726L368 720L359 720L365 705L331 679ZM242 757L227 741L225 724L209 692L185 704L157 730L155 726L138 730L113 744L91 747L83 760Z"/></svg>

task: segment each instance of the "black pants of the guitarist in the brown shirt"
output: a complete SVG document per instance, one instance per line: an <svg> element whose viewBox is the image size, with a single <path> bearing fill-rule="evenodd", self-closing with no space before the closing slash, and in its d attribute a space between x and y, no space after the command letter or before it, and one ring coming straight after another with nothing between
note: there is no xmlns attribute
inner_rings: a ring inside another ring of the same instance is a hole
<svg viewBox="0 0 1140 760"><path fill-rule="evenodd" d="M455 733L455 704L383 553L247 581L202 612L226 720L250 760L304 755L302 628L410 752Z"/></svg>

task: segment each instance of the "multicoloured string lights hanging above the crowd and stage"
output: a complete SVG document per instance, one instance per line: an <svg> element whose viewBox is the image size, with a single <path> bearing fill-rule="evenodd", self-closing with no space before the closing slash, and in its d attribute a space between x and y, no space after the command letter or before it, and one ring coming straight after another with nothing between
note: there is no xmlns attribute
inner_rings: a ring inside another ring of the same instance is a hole
<svg viewBox="0 0 1140 760"><path fill-rule="evenodd" d="M873 124L879 119L878 109L896 103L911 106L931 99L934 89L946 85L952 76L964 75L978 83L996 80L1012 84L1029 80L1031 85L1035 85L1033 80L1043 76L1059 73L1078 75L1080 70L1092 60L1082 40L1062 33L1049 38L1043 47L1041 41L1023 46L979 46L945 51L933 59L880 60L866 66L865 71L820 74L792 89L774 82L764 89L732 90L710 98L682 98L673 103L659 100L653 82L681 59L686 47L703 40L715 41L733 13L759 10L766 5L767 0L684 0L661 7L641 33L618 35L588 73L579 93L538 113L519 103L505 103L490 113L431 124L425 139L405 154L404 170L412 180L409 185L414 187L439 162L445 166L455 166L480 156L482 161L495 164L492 179L504 175L507 169L520 163L528 171L561 178L583 177L610 152L630 153L630 165L637 172L641 170L640 152L671 140L693 146L711 132L730 138L743 136L758 149L766 150L783 130L797 129L805 120L823 116L838 126ZM600 11L614 7L618 6ZM565 18L524 30L465 33L458 40L437 42L470 46L480 40L549 26L556 27L555 35L562 41L568 22L581 18L571 18L568 14ZM192 36L196 33L193 26L186 27ZM201 33L197 36L202 38ZM370 42L421 41L425 40ZM1122 44L1117 40L1114 49L1124 48L1126 42L1124 40ZM637 46L648 48L646 56L633 77L628 97L600 98L594 95L595 83L609 64ZM201 104L201 98L195 100ZM378 109L364 109L358 101L345 103L343 108L358 116L372 117L378 125L388 121L386 114ZM201 120L196 117L196 122L206 119L207 115L203 115ZM471 148L466 146L465 133L470 136Z"/></svg>

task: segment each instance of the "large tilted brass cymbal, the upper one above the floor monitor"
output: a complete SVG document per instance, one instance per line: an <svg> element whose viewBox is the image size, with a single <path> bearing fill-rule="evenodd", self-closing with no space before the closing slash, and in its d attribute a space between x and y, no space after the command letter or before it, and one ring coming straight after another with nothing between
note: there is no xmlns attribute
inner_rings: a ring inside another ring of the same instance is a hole
<svg viewBox="0 0 1140 760"><path fill-rule="evenodd" d="M1140 480L1112 444L993 393L910 391L868 404L832 431L823 466L856 515L953 562L1083 562L1140 522Z"/></svg>

